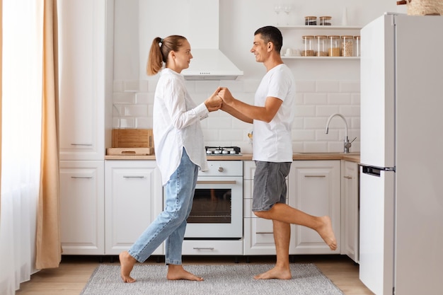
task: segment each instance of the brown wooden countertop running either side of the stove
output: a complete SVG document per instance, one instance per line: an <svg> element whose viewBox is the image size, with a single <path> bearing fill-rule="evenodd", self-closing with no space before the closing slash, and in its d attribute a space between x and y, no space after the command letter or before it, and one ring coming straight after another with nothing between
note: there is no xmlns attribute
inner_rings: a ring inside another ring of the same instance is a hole
<svg viewBox="0 0 443 295"><path fill-rule="evenodd" d="M149 156L105 156L105 160L155 160L155 155ZM238 156L207 156L209 161L251 161L252 154L241 154ZM300 160L346 160L359 163L359 153L294 153L292 156L294 161Z"/></svg>

